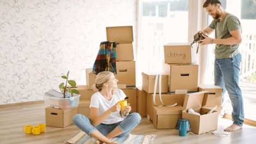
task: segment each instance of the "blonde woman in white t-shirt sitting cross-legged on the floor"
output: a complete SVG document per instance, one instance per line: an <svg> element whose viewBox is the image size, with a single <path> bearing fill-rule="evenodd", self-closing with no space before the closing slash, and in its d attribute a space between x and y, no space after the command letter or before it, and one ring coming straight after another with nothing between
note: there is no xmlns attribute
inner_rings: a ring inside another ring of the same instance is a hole
<svg viewBox="0 0 256 144"><path fill-rule="evenodd" d="M97 92L91 98L90 120L81 114L73 118L78 128L97 139L96 143L117 143L111 139L128 135L141 122L138 113L129 114L130 105L120 109L118 102L125 99L126 95L117 88L117 82L112 72L98 73L92 86Z"/></svg>

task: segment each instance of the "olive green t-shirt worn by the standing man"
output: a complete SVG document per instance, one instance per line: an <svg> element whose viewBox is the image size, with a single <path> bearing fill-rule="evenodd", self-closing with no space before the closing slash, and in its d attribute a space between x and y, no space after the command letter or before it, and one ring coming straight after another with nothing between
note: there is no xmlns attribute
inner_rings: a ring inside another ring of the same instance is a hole
<svg viewBox="0 0 256 144"><path fill-rule="evenodd" d="M215 39L227 39L231 37L230 31L240 29L241 23L239 19L227 13L227 15L223 18L222 21L213 20L209 26L211 29L215 29ZM222 45L216 44L215 46L215 58L216 59L224 59L224 58L231 58L237 53L239 53L238 48L239 44L236 45Z"/></svg>

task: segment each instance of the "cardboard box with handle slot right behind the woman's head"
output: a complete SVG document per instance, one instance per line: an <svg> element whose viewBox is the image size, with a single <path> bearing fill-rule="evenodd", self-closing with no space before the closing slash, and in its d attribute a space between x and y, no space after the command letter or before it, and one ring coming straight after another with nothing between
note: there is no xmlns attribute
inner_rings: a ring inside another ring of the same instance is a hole
<svg viewBox="0 0 256 144"><path fill-rule="evenodd" d="M126 84L126 87L135 87L135 61L117 61L117 74L115 78L118 79L118 84Z"/></svg>

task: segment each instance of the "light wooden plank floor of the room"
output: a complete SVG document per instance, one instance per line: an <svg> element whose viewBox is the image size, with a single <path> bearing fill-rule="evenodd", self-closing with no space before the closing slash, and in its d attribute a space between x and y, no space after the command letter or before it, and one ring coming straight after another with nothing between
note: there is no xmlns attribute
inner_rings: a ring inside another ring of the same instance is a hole
<svg viewBox="0 0 256 144"><path fill-rule="evenodd" d="M31 135L22 132L22 126L26 124L36 125L45 123L44 104L19 105L0 109L0 143L64 143L76 135L80 130L74 124L66 128L46 127L46 132L41 135ZM232 122L225 118L219 118L218 130L223 130ZM147 118L136 127L132 134L155 134L154 143L255 143L256 127L244 126L242 130L231 133L229 136L220 136L210 133L204 135L189 134L186 137L178 135L175 129L155 129Z"/></svg>

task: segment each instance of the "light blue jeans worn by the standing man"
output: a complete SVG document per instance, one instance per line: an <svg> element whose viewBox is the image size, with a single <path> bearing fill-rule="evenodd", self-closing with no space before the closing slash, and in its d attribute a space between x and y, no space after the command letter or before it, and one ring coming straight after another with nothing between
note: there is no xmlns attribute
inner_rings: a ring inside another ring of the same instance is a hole
<svg viewBox="0 0 256 144"><path fill-rule="evenodd" d="M238 53L232 58L215 59L214 82L215 85L223 87L228 91L228 95L233 107L232 118L234 124L242 126L244 119L243 97L239 87L239 71L242 57Z"/></svg>

